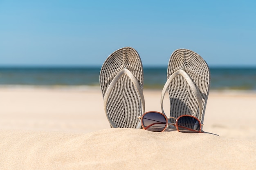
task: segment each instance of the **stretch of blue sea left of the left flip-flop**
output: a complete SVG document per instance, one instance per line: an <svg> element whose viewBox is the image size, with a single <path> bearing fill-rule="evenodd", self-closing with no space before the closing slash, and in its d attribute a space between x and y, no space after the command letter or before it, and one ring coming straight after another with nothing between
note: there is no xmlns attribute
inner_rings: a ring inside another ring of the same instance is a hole
<svg viewBox="0 0 256 170"><path fill-rule="evenodd" d="M0 68L0 85L99 85L100 68Z"/></svg>

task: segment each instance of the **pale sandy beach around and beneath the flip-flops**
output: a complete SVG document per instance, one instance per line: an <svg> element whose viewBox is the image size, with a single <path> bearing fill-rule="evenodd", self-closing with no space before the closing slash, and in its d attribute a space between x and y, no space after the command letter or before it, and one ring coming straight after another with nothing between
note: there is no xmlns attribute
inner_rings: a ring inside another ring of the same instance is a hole
<svg viewBox="0 0 256 170"><path fill-rule="evenodd" d="M0 96L0 169L256 167L252 91L210 90L199 134L111 129L97 86L3 86ZM144 97L146 111L161 112L161 90Z"/></svg>

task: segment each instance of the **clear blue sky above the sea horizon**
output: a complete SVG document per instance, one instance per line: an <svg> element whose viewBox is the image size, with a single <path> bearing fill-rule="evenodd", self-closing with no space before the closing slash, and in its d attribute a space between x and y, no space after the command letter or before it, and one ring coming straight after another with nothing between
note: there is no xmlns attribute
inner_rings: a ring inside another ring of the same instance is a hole
<svg viewBox="0 0 256 170"><path fill-rule="evenodd" d="M0 65L101 66L131 46L144 66L187 48L256 66L255 0L0 0Z"/></svg>

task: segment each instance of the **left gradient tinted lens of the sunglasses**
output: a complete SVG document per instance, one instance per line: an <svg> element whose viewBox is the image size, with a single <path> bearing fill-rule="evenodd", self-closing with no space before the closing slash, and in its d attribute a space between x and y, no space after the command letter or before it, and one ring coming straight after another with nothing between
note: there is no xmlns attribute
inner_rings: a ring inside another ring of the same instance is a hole
<svg viewBox="0 0 256 170"><path fill-rule="evenodd" d="M149 112L143 116L142 124L148 131L162 132L166 127L166 118L160 113Z"/></svg>

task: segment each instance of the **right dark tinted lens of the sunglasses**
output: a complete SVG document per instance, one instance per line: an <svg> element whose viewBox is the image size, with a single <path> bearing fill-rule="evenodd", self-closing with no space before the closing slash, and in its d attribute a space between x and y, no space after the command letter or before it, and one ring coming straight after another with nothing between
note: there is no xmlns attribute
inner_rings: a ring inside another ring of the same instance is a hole
<svg viewBox="0 0 256 170"><path fill-rule="evenodd" d="M182 116L177 120L177 130L183 133L199 133L200 122L190 116Z"/></svg>

